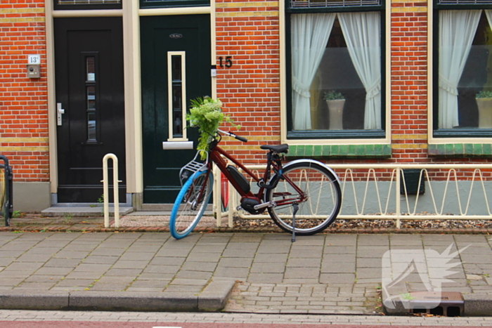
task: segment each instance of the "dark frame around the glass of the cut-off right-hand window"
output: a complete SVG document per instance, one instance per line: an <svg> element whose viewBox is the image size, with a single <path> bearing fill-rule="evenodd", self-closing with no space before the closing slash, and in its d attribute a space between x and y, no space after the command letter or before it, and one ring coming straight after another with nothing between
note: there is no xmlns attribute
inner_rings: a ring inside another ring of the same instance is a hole
<svg viewBox="0 0 492 328"><path fill-rule="evenodd" d="M432 20L437 22L436 27L432 29L432 138L446 140L449 138L492 138L492 129L477 128L457 128L457 129L439 129L439 11L451 10L485 10L492 4L438 4L438 0L432 1ZM429 25L430 27L430 25Z"/></svg>

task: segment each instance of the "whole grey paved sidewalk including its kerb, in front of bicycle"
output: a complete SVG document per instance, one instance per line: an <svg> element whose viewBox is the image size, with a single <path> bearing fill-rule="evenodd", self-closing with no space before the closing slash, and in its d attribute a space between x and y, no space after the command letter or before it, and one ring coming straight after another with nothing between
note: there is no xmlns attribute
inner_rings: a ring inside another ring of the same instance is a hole
<svg viewBox="0 0 492 328"><path fill-rule="evenodd" d="M0 307L377 315L382 289L432 286L484 315L491 255L485 235L4 231Z"/></svg>

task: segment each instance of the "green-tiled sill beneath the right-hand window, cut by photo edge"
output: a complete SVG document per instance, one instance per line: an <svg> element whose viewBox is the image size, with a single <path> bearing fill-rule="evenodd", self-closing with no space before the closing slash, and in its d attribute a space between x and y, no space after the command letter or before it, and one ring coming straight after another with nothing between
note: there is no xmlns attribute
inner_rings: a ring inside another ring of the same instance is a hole
<svg viewBox="0 0 492 328"><path fill-rule="evenodd" d="M446 143L429 145L429 156L433 157L492 157L490 143Z"/></svg>

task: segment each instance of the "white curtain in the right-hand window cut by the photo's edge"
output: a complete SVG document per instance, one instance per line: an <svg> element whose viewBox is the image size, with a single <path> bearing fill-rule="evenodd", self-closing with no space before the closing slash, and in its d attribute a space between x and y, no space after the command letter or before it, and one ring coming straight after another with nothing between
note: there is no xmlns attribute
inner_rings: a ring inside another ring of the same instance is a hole
<svg viewBox="0 0 492 328"><path fill-rule="evenodd" d="M439 129L458 122L458 82L472 48L481 10L439 11Z"/></svg>

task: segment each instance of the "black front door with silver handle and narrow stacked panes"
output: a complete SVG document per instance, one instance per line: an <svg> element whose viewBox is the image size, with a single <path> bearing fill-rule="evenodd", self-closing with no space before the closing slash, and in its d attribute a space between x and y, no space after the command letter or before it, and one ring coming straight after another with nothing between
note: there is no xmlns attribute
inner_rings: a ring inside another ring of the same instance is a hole
<svg viewBox="0 0 492 328"><path fill-rule="evenodd" d="M124 199L122 18L56 18L54 27L58 202L97 202L108 153Z"/></svg>

